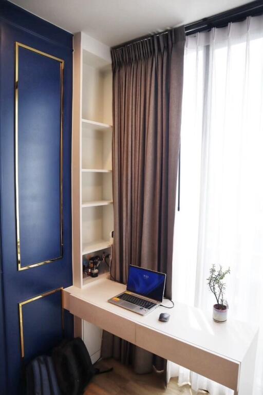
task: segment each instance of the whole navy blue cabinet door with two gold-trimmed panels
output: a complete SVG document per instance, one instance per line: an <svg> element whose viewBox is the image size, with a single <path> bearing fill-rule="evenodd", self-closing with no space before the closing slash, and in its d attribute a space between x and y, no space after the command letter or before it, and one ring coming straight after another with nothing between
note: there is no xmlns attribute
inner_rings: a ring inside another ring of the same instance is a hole
<svg viewBox="0 0 263 395"><path fill-rule="evenodd" d="M0 335L17 395L23 366L73 330L61 297L72 284L72 36L8 2L0 15Z"/></svg>

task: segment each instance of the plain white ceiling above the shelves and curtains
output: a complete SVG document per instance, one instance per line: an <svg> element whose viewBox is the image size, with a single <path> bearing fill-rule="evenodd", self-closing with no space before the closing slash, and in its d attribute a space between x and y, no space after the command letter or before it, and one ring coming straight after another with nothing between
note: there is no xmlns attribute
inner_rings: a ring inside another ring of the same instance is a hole
<svg viewBox="0 0 263 395"><path fill-rule="evenodd" d="M195 22L248 0L13 0L71 33L84 31L114 46L166 28Z"/></svg>

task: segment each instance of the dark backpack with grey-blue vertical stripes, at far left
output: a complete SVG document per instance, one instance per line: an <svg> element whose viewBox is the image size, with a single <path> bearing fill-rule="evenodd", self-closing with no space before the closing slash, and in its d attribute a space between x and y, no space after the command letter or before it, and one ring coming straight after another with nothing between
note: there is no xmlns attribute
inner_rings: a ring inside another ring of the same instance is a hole
<svg viewBox="0 0 263 395"><path fill-rule="evenodd" d="M26 395L61 395L50 356L38 356L27 366Z"/></svg>

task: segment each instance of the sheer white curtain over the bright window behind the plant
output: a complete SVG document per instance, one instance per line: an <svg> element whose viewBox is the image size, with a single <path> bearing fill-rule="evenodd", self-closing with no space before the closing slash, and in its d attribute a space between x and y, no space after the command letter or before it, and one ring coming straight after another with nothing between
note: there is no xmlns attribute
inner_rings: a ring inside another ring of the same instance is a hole
<svg viewBox="0 0 263 395"><path fill-rule="evenodd" d="M173 298L211 312L209 268L231 268L229 319L260 329L254 392L263 393L263 17L187 37L181 204ZM218 324L224 325L224 324ZM233 391L175 364L168 379L212 395ZM252 395L252 394L248 394Z"/></svg>

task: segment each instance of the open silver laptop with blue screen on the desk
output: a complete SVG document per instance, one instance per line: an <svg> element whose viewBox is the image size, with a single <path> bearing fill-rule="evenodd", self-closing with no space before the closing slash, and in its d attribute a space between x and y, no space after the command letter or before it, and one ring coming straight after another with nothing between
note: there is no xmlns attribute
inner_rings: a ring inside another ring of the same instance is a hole
<svg viewBox="0 0 263 395"><path fill-rule="evenodd" d="M146 315L162 303L165 279L164 273L130 265L126 291L108 302Z"/></svg>

